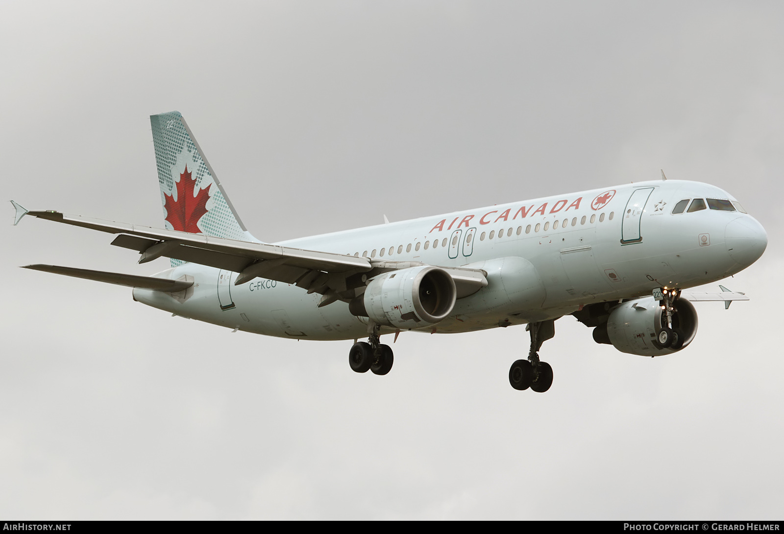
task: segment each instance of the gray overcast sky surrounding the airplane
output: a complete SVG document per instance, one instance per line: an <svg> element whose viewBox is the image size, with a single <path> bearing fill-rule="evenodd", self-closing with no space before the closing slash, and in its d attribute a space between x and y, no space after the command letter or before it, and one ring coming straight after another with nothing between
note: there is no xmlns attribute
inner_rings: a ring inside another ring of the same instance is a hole
<svg viewBox="0 0 784 534"><path fill-rule="evenodd" d="M179 110L262 240L643 179L768 230L644 359L564 317L544 395L522 327L350 341L172 318L18 269L151 274L84 229L0 226L0 516L782 518L781 2L3 2L5 200L162 226L149 115ZM391 340L390 340L391 341Z"/></svg>

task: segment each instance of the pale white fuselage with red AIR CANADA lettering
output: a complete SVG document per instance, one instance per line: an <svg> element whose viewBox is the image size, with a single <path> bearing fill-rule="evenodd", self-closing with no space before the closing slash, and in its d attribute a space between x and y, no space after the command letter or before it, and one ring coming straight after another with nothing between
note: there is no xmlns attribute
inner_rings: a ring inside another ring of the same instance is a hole
<svg viewBox="0 0 784 534"><path fill-rule="evenodd" d="M447 319L423 329L466 332L554 319L657 287L695 287L739 272L760 257L767 236L750 215L710 208L673 214L680 200L694 198L735 200L700 182L637 182L281 244L484 269L488 287L460 298ZM256 278L234 286L237 273L189 263L158 276L192 276L194 286L187 298L141 289L133 290L134 298L179 316L279 337L366 335L368 319L351 315L345 302L318 308L321 295L293 284ZM529 291L528 301L510 298L534 279L540 290Z"/></svg>

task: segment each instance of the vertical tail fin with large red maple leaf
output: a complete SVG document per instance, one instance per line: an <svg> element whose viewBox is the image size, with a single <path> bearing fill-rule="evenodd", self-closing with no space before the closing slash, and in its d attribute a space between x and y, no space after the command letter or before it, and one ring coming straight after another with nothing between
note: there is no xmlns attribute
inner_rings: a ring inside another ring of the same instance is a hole
<svg viewBox="0 0 784 534"><path fill-rule="evenodd" d="M150 123L165 228L259 242L234 211L180 112L151 115Z"/></svg>

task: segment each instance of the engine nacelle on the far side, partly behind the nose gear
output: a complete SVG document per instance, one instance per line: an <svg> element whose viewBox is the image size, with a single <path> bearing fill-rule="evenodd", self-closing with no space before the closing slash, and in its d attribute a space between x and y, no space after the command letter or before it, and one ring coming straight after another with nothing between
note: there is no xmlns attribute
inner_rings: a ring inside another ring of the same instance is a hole
<svg viewBox="0 0 784 534"><path fill-rule="evenodd" d="M675 301L673 308L673 330L678 341L670 348L662 348L657 341L662 327L666 327L666 315L653 297L637 298L613 308L607 319L609 341L620 352L641 356L678 352L697 334L697 310L685 298Z"/></svg>

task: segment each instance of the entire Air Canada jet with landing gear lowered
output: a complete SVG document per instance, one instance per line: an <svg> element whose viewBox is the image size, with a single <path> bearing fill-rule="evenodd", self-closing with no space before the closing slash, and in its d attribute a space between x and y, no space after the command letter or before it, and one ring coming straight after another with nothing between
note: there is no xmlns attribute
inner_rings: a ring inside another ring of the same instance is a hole
<svg viewBox="0 0 784 534"><path fill-rule="evenodd" d="M152 115L164 228L27 211L114 235L139 263L170 258L155 276L27 265L133 288L133 300L233 330L310 340L354 340L352 370L383 375L382 334L458 334L527 325L528 357L513 388L543 392L539 359L554 322L575 316L597 343L641 356L686 348L692 301L748 300L720 286L746 269L768 237L729 193L662 179L455 211L445 215L265 243L231 204L182 115ZM368 341L358 341L367 337Z"/></svg>

